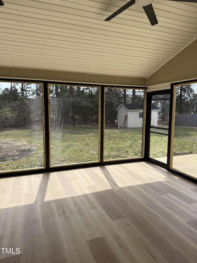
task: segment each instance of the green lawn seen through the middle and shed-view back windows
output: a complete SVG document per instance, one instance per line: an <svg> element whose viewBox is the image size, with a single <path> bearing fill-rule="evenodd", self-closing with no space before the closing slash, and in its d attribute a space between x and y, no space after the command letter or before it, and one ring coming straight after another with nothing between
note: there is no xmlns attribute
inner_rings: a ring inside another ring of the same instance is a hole
<svg viewBox="0 0 197 263"><path fill-rule="evenodd" d="M51 129L51 164L98 161L98 127ZM141 156L142 128L105 129L105 160Z"/></svg>

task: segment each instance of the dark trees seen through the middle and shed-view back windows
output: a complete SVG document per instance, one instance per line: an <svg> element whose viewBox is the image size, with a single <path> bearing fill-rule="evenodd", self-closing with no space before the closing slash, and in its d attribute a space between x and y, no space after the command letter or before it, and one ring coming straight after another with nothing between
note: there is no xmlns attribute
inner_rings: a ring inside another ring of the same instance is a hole
<svg viewBox="0 0 197 263"><path fill-rule="evenodd" d="M97 125L99 88L50 85L50 124ZM121 103L143 103L144 93L135 89L105 89L105 123L115 124Z"/></svg>

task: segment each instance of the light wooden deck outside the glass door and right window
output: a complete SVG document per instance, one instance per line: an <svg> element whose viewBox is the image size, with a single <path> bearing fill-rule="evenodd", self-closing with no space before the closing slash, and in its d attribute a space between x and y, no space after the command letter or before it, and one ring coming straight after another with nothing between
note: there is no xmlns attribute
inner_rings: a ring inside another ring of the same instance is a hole
<svg viewBox="0 0 197 263"><path fill-rule="evenodd" d="M155 159L166 163L167 157ZM172 167L197 178L197 154L173 156Z"/></svg>

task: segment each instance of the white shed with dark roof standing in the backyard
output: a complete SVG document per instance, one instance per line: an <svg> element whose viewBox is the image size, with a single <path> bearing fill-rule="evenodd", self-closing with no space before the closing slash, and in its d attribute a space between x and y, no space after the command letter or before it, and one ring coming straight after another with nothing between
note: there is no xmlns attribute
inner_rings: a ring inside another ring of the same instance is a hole
<svg viewBox="0 0 197 263"><path fill-rule="evenodd" d="M125 128L138 128L143 125L143 104L122 103L118 111L118 126ZM160 109L152 104L151 126L157 126L158 112ZM124 125L123 125L124 124Z"/></svg>

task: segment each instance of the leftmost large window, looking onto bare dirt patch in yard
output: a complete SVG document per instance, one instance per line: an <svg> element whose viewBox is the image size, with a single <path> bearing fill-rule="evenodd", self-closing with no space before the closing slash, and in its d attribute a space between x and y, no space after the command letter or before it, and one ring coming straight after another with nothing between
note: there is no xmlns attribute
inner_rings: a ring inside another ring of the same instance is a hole
<svg viewBox="0 0 197 263"><path fill-rule="evenodd" d="M44 167L42 88L0 82L0 171Z"/></svg>

